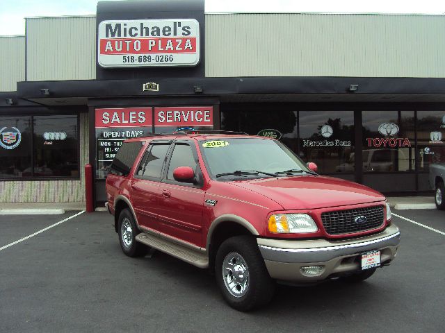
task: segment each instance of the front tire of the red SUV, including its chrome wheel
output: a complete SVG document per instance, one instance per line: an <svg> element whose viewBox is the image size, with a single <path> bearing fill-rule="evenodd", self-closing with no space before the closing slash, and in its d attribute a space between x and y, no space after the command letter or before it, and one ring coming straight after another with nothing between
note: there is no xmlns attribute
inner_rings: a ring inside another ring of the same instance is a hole
<svg viewBox="0 0 445 333"><path fill-rule="evenodd" d="M275 281L251 236L231 237L221 244L215 274L226 302L239 311L266 305L275 293Z"/></svg>

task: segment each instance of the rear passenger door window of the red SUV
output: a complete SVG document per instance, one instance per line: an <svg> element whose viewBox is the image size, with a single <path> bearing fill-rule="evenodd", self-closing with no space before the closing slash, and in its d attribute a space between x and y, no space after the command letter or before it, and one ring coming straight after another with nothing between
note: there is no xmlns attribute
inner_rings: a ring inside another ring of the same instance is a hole
<svg viewBox="0 0 445 333"><path fill-rule="evenodd" d="M152 144L145 152L136 175L161 178L162 166L170 144Z"/></svg>

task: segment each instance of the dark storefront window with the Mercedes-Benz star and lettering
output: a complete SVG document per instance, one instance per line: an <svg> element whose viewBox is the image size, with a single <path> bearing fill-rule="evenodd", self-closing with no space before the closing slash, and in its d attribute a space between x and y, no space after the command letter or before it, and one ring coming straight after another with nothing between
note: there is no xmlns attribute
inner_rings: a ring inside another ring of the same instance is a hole
<svg viewBox="0 0 445 333"><path fill-rule="evenodd" d="M300 111L300 157L319 173L353 173L354 112Z"/></svg>

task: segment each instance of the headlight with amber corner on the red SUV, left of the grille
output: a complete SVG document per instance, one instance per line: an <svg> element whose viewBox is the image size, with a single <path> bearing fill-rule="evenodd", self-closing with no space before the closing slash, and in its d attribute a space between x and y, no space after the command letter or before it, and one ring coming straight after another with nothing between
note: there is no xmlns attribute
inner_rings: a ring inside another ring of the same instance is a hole
<svg viewBox="0 0 445 333"><path fill-rule="evenodd" d="M316 223L308 214L273 214L269 217L268 227L274 234L318 231Z"/></svg>

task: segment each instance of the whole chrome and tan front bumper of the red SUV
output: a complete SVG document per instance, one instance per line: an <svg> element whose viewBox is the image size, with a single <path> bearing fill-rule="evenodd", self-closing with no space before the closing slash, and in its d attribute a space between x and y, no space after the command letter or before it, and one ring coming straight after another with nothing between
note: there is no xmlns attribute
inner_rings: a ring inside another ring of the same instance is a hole
<svg viewBox="0 0 445 333"><path fill-rule="evenodd" d="M378 234L357 239L258 238L257 242L272 278L289 282L316 282L360 271L360 255L367 251L380 250L381 264L388 264L396 257L400 236L397 226L391 224ZM306 276L300 271L303 266L323 266L323 271L316 276Z"/></svg>

